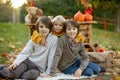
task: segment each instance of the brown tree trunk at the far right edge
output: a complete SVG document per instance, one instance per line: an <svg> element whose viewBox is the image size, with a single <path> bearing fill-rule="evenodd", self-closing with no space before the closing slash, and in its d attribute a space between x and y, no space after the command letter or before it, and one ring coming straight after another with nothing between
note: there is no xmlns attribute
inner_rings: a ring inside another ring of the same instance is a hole
<svg viewBox="0 0 120 80"><path fill-rule="evenodd" d="M115 32L120 33L120 8L116 9Z"/></svg>

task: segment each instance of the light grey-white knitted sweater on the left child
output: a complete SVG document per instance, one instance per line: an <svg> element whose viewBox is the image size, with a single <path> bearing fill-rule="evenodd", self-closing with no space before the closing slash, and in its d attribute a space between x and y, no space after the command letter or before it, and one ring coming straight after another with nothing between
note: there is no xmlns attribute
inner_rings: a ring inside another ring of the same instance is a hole
<svg viewBox="0 0 120 80"><path fill-rule="evenodd" d="M36 65L38 65L41 72L50 73L50 67L52 65L53 56L57 47L58 38L49 34L47 37L47 45L36 44L32 40L29 40L24 49L19 53L13 64L19 65L24 60L29 59Z"/></svg>

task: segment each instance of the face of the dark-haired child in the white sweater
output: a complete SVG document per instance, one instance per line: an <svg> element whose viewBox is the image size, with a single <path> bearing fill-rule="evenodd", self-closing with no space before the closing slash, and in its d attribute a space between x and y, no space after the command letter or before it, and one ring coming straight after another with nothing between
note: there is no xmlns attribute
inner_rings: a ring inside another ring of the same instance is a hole
<svg viewBox="0 0 120 80"><path fill-rule="evenodd" d="M39 23L38 29L39 33L44 37L46 37L50 31L42 22Z"/></svg>

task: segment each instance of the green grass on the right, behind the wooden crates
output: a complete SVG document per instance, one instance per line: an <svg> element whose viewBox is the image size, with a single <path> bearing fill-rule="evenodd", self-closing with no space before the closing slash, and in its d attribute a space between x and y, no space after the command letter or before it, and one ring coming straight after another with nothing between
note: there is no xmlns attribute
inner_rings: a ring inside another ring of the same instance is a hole
<svg viewBox="0 0 120 80"><path fill-rule="evenodd" d="M120 33L109 29L105 31L96 27L92 28L92 43L99 42L107 50L120 50Z"/></svg>

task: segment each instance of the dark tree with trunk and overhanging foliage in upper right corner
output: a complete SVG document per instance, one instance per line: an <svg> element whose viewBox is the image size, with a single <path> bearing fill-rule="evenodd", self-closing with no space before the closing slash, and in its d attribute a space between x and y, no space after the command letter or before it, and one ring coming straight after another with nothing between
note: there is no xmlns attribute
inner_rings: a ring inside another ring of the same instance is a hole
<svg viewBox="0 0 120 80"><path fill-rule="evenodd" d="M120 1L119 0L99 0L98 6L113 11L115 15L115 31L120 33Z"/></svg>

